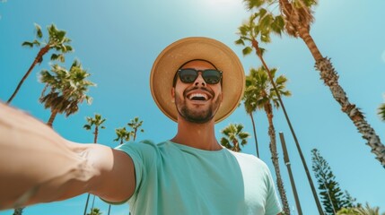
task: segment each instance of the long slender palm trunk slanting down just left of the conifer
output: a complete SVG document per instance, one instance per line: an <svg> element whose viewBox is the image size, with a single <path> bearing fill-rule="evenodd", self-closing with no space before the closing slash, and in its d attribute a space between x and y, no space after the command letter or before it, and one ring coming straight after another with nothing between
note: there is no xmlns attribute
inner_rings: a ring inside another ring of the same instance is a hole
<svg viewBox="0 0 385 215"><path fill-rule="evenodd" d="M313 179L311 179L311 174L310 174L308 165L306 164L306 159L305 159L305 157L303 156L303 153L302 153L300 142L298 142L297 135L294 132L293 125L292 125L292 123L290 121L290 118L289 118L287 112L286 112L286 108L284 107L284 101L282 101L281 95L279 94L279 91L276 89L276 83L273 80L273 76L272 76L270 70L268 69L265 60L262 57L262 53L260 52L259 47L258 47L258 41L254 39L252 41L252 45L256 49L257 56L259 57L259 60L262 62L263 66L265 67L265 69L267 71L268 78L269 78L271 84L273 85L274 90L276 91L276 96L278 98L279 104L281 105L282 109L284 110L284 117L286 119L287 125L289 125L290 132L293 135L293 139L294 139L294 142L295 142L295 146L296 146L296 148L298 150L298 153L300 154L301 161L302 161L302 166L305 169L305 173L306 173L306 176L308 178L309 185L311 185L311 193L313 194L314 201L316 202L317 209L319 211L319 215L324 215L324 212L322 211L322 206L320 205L320 202L319 202L319 197L317 195L316 188L315 188L314 183L313 183Z"/></svg>

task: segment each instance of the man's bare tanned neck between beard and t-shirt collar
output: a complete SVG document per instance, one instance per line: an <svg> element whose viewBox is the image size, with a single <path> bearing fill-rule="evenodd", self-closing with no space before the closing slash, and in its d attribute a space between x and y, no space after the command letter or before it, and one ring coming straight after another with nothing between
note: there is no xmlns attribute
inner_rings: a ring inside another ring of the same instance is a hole
<svg viewBox="0 0 385 215"><path fill-rule="evenodd" d="M221 150L214 133L214 119L206 124L178 121L178 133L171 142L187 145L200 150Z"/></svg>

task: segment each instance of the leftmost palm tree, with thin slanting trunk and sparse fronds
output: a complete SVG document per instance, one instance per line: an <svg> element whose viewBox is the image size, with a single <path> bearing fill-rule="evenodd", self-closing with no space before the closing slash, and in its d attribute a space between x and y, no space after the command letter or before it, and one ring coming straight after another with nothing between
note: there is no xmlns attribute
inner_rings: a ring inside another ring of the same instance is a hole
<svg viewBox="0 0 385 215"><path fill-rule="evenodd" d="M35 67L36 64L41 64L43 61L43 56L48 53L52 48L56 49L57 53L52 54L51 60L60 60L61 62L65 62L65 56L67 52L73 51L73 47L69 45L71 39L66 38L65 30L57 30L57 27L54 24L48 26L48 41L42 41L43 32L41 31L41 27L35 23L36 29L36 39L33 41L24 41L22 46L25 47L41 47L38 55L35 57L35 60L32 62L30 68L27 73L24 74L22 80L17 85L16 89L13 91L12 96L8 99L7 104L11 103L13 98L16 96L17 92L22 87L22 83L27 79L30 75L31 71Z"/></svg>

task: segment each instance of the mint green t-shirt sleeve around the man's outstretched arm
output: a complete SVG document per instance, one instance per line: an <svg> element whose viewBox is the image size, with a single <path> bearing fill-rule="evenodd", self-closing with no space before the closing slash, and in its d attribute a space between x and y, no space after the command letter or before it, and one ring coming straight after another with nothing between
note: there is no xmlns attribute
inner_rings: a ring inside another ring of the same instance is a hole
<svg viewBox="0 0 385 215"><path fill-rule="evenodd" d="M127 155L133 160L136 175L136 188L131 196L131 198L133 198L138 190L140 190L140 186L142 185L149 168L153 167L154 160L157 157L156 144L150 141L127 142L119 145L115 149L127 153ZM122 204L129 201L131 198L123 202L108 202L103 199L101 200L110 204Z"/></svg>

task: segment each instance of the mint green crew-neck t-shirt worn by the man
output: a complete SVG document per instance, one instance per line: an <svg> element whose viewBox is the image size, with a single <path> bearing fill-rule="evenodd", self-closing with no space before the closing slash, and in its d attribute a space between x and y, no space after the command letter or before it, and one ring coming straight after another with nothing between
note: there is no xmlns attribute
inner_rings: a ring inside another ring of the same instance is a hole
<svg viewBox="0 0 385 215"><path fill-rule="evenodd" d="M198 150L166 141L128 142L134 161L132 214L276 215L281 207L267 165L231 150Z"/></svg>

